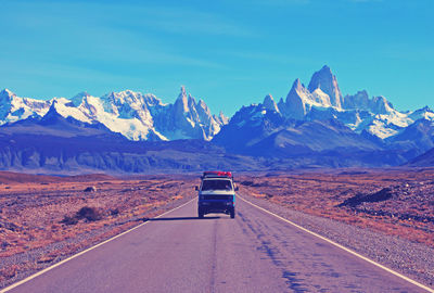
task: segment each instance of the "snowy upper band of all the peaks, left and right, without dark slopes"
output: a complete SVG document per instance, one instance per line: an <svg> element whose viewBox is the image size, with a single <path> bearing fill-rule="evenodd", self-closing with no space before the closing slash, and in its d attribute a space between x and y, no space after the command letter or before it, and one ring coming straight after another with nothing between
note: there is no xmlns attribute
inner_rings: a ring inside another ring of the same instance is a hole
<svg viewBox="0 0 434 293"><path fill-rule="evenodd" d="M163 103L154 94L131 90L103 97L80 92L71 100L53 98L41 101L20 98L5 89L0 92L0 125L33 116L42 117L52 104L64 117L85 123L100 122L130 140L212 140L222 126L230 123L221 112L212 115L202 99L196 102L181 87L173 104ZM281 98L277 103L271 94L267 94L263 103L248 109L250 113L243 111L244 119L237 118L235 124L258 125L270 113L283 120L337 119L357 133L365 131L383 140L401 133L416 120L434 120L434 112L429 107L399 112L386 98L370 98L366 90L343 97L336 77L327 65L314 73L307 88L297 78L285 100Z"/></svg>

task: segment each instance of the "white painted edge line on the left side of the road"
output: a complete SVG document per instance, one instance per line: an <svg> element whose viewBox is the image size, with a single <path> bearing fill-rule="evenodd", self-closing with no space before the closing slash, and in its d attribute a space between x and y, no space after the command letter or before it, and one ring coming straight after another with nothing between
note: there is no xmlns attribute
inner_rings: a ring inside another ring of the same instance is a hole
<svg viewBox="0 0 434 293"><path fill-rule="evenodd" d="M156 217L154 217L154 218L163 217L164 215L166 215L166 214L168 214L168 213L171 213L171 212L174 212L174 211L176 211L176 209L178 209L178 208L181 208L182 206L186 206L186 205L188 205L189 203L191 203L192 201L194 201L195 199L196 199L196 198L194 198L194 199L188 201L187 203L184 203L184 204L182 204L182 205L180 205L180 206L177 206L177 207L175 207L175 208L173 208L173 209L170 209L170 211L167 211L167 212L165 212L165 213L163 213L163 214L161 214L161 215L158 215L158 216L156 216ZM16 282L16 283L11 284L10 286L7 286L7 288L0 290L0 293L8 292L8 291L10 291L10 290L12 290L12 289L14 289L14 288L21 285L21 284L24 284L24 283L30 281L31 279L35 279L36 277L41 276L42 273L46 273L47 271L52 270L53 268L56 268L56 267L59 267L59 266L65 264L66 262L69 262L71 259L74 259L74 258L76 258L76 257L78 257L78 256L80 256L80 255L82 255L82 254L85 254L85 253L87 253L87 252L90 252L90 251L92 251L92 250L94 250L94 249L97 249L97 247L99 247L99 246L101 246L101 245L103 245L103 244L105 244L105 243L111 242L112 240L115 240L115 239L117 239L117 238L119 238L119 237L122 237L122 235L125 235L126 233L129 233L129 232L131 232L132 230L136 230L136 229L138 229L138 228L140 228L140 227L142 227L143 225L146 225L146 224L149 224L149 222L151 222L151 221L148 220L148 221L145 221L145 222L142 222L142 224L140 224L140 225L138 225L138 226L136 226L136 227L133 227L133 228L131 228L131 229L125 231L125 232L122 232L120 234L117 234L117 235L115 235L115 237L112 237L112 238L110 238L110 239L107 239L107 240L105 240L105 241L103 241L103 242L101 242L101 243L99 243L99 244L97 244L97 245L90 247L90 249L87 249L87 250L85 250L85 251L82 251L82 252L79 252L79 253L77 253L77 254L75 254L75 255L68 257L68 258L65 258L65 259L59 262L58 264L52 265L51 267L44 268L44 269L42 269L42 270L40 270L40 271L38 271L38 272L36 272L36 273L34 273L34 275L27 277L27 278L24 279L24 280L21 280L21 281Z"/></svg>

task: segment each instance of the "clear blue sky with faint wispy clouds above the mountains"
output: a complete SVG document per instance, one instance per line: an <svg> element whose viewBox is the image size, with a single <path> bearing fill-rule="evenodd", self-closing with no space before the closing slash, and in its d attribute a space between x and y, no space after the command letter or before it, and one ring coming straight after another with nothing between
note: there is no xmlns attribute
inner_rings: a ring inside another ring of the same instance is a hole
<svg viewBox="0 0 434 293"><path fill-rule="evenodd" d="M20 97L131 89L173 102L184 85L232 115L327 64L344 94L434 106L432 0L0 0L0 88Z"/></svg>

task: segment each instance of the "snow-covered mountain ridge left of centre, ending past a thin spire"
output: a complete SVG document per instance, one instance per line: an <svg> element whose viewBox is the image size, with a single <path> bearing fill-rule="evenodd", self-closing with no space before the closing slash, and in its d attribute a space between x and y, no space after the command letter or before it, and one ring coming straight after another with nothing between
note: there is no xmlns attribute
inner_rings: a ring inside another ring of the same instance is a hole
<svg viewBox="0 0 434 293"><path fill-rule="evenodd" d="M8 89L0 92L0 125L28 117L43 117L50 110L61 116L95 124L129 140L210 140L228 118L220 112L212 115L203 100L187 94L184 87L174 104L164 104L154 94L125 90L93 97L81 92L73 99L41 101L20 98Z"/></svg>

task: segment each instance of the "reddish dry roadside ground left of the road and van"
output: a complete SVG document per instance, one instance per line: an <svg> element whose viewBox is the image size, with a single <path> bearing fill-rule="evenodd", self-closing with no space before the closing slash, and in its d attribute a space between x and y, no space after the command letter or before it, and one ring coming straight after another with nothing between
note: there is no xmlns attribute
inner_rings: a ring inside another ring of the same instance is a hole
<svg viewBox="0 0 434 293"><path fill-rule="evenodd" d="M197 182L0 173L0 288L173 208Z"/></svg>

